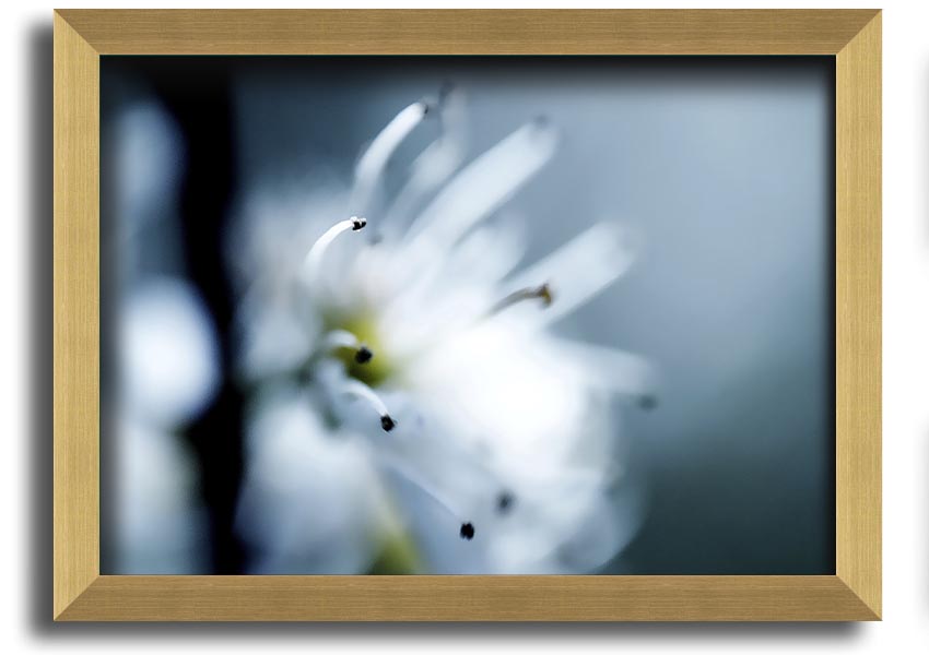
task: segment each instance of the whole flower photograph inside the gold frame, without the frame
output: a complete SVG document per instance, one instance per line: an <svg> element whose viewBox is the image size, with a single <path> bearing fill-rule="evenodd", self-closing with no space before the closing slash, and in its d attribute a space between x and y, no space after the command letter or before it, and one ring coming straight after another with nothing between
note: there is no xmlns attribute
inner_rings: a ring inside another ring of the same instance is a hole
<svg viewBox="0 0 929 655"><path fill-rule="evenodd" d="M101 573L835 575L835 88L101 57Z"/></svg>

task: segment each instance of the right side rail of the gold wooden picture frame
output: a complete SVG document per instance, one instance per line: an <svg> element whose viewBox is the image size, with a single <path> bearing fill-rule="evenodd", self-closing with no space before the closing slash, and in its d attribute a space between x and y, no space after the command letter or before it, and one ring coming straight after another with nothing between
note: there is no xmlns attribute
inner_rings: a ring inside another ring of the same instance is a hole
<svg viewBox="0 0 929 655"><path fill-rule="evenodd" d="M836 574L881 612L881 16L838 53Z"/></svg>

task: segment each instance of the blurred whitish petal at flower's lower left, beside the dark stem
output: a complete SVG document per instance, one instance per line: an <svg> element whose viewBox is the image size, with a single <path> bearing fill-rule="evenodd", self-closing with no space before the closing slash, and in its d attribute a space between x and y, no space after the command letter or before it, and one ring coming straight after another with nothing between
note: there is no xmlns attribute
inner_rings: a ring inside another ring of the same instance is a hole
<svg viewBox="0 0 929 655"><path fill-rule="evenodd" d="M366 448L327 430L307 395L279 388L249 413L237 527L254 572L362 573L374 556L379 487Z"/></svg>

